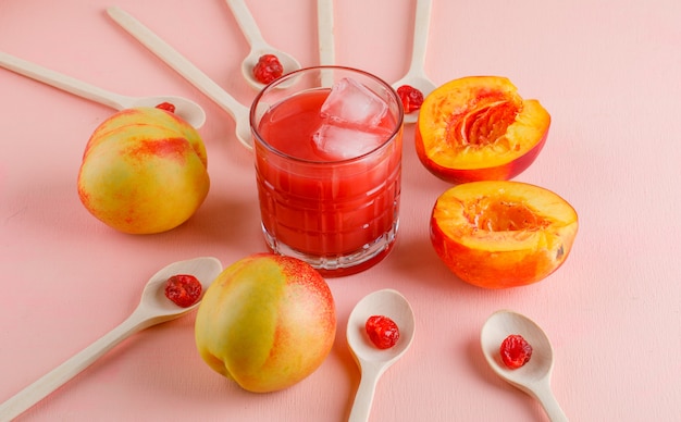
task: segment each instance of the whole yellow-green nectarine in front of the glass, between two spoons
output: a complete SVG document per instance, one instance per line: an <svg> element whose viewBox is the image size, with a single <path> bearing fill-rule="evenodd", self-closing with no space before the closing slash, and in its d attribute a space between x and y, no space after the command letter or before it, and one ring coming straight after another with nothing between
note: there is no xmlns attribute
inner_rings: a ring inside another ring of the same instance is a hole
<svg viewBox="0 0 681 422"><path fill-rule="evenodd" d="M225 269L196 316L201 358L242 388L287 388L321 365L336 333L335 305L322 276L295 258L259 253Z"/></svg>

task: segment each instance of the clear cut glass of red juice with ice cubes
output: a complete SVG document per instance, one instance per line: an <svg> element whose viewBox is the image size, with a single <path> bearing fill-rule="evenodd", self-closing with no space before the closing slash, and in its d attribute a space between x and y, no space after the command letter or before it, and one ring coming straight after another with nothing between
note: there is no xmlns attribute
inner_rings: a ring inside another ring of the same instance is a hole
<svg viewBox="0 0 681 422"><path fill-rule="evenodd" d="M337 80L333 99L315 84L322 72ZM293 85L265 88L251 109L267 244L324 275L362 271L387 255L397 233L399 98L374 76L343 67L304 70L280 83Z"/></svg>

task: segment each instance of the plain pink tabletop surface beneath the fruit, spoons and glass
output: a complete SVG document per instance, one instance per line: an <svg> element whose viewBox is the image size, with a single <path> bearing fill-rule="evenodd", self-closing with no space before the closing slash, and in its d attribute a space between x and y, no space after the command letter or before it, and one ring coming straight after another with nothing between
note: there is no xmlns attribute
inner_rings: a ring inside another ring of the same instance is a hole
<svg viewBox="0 0 681 422"><path fill-rule="evenodd" d="M315 1L249 1L271 44L313 65ZM245 104L248 45L222 0L120 0ZM0 401L122 322L166 263L263 251L251 154L232 119L104 13L101 0L4 0L0 50L125 95L171 94L208 112L200 131L211 191L165 234L129 236L91 218L75 179L85 142L111 109L0 70ZM407 71L414 1L336 1L337 62L396 80ZM362 13L357 13L361 8ZM502 308L548 333L553 386L573 421L672 421L681 414L678 220L681 207L681 3L435 0L428 73L508 76L553 115L537 161L518 181L552 189L580 214L566 264L544 282L488 291L448 272L428 237L448 185L420 165L406 129L401 233L364 273L330 280L336 344L302 383L256 395L212 372L194 314L145 331L24 413L30 421L343 421L359 372L345 327L384 287L417 315L412 348L379 384L373 421L545 420L486 367L479 333Z"/></svg>

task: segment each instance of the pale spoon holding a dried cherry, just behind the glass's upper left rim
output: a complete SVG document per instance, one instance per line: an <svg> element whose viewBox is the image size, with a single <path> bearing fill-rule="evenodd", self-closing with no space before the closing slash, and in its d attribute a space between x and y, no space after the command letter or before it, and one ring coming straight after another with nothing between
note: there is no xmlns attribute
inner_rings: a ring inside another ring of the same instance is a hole
<svg viewBox="0 0 681 422"><path fill-rule="evenodd" d="M300 63L293 55L265 42L262 38L260 29L258 28L258 24L256 24L256 20L246 7L244 0L226 0L226 2L227 5L230 5L230 9L232 9L232 13L234 14L234 17L236 17L236 22L250 45L250 52L242 62L242 74L244 74L244 78L251 87L257 90L264 87L264 85L258 82L258 79L253 76L253 67L263 54L276 55L280 63L282 63L282 67L284 67L284 74L300 69Z"/></svg>

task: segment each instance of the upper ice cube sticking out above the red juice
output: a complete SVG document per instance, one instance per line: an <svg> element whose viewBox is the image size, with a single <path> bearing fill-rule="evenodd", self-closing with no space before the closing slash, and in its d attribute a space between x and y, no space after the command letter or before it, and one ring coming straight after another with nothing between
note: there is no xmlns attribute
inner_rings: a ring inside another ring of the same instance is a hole
<svg viewBox="0 0 681 422"><path fill-rule="evenodd" d="M387 103L364 85L345 77L333 85L321 113L332 121L370 127L381 123Z"/></svg>

